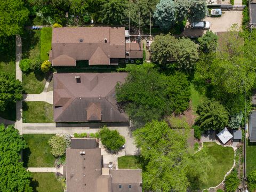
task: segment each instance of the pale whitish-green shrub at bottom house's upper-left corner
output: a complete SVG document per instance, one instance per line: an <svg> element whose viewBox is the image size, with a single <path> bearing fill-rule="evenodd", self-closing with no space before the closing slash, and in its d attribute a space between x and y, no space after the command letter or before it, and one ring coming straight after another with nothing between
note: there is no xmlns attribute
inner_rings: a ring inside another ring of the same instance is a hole
<svg viewBox="0 0 256 192"><path fill-rule="evenodd" d="M65 154L66 152L66 140L62 136L53 136L49 141L49 145L52 150L51 153L55 157L59 157Z"/></svg>

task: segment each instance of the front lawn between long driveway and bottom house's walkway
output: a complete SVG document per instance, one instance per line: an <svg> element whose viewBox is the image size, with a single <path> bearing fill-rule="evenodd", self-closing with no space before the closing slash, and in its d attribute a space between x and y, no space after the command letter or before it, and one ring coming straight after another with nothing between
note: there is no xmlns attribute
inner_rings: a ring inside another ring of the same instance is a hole
<svg viewBox="0 0 256 192"><path fill-rule="evenodd" d="M49 139L54 134L23 134L28 148L23 150L25 167L53 167L55 157L51 154Z"/></svg>

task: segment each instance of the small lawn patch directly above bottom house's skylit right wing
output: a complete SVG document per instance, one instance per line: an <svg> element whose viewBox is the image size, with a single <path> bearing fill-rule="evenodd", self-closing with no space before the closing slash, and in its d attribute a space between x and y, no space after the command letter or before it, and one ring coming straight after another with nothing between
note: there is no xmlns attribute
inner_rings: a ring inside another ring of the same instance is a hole
<svg viewBox="0 0 256 192"><path fill-rule="evenodd" d="M122 156L118 157L119 169L141 169L138 159L135 156Z"/></svg>

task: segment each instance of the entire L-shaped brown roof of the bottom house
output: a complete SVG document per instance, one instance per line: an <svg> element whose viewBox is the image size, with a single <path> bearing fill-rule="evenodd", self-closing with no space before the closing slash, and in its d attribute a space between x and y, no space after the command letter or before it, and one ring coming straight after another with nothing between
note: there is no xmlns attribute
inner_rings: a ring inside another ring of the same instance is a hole
<svg viewBox="0 0 256 192"><path fill-rule="evenodd" d="M110 170L102 174L101 149L95 147L95 142L71 139L71 148L66 149L67 192L141 192L141 170Z"/></svg>

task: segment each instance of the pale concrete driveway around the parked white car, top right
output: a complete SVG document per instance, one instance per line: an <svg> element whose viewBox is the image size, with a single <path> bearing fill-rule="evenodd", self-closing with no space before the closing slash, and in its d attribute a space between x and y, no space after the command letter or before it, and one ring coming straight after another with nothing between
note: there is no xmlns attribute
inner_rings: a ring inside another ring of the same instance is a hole
<svg viewBox="0 0 256 192"><path fill-rule="evenodd" d="M219 18L206 17L204 21L211 22L210 30L213 32L228 31L234 24L237 24L239 27L241 27L243 18L242 13L242 11L225 11ZM191 29L189 23L187 22L185 30L181 36L199 37L205 34L206 31L207 30L202 29Z"/></svg>

